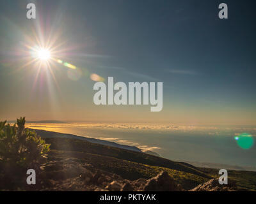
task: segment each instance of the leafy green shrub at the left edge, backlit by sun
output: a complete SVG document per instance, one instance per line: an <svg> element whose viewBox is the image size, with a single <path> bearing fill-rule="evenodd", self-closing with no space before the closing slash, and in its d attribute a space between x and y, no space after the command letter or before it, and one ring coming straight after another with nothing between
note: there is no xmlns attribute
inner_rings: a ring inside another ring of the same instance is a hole
<svg viewBox="0 0 256 204"><path fill-rule="evenodd" d="M25 128L25 122L25 117L17 119L17 124L13 126L6 124L6 121L0 122L0 180L3 179L2 185L16 184L17 177L20 178L20 174L23 177L26 176L24 172L29 168L38 170L50 150L50 145L36 135L35 131Z"/></svg>

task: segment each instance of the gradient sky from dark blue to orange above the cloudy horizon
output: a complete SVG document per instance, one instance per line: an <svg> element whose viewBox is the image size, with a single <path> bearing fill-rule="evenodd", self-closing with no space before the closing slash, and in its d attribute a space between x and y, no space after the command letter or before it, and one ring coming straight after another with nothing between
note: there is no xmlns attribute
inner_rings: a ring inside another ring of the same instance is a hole
<svg viewBox="0 0 256 204"><path fill-rule="evenodd" d="M35 20L26 18L31 2ZM218 18L223 2L226 20ZM234 0L2 0L0 119L254 125L255 8L255 1ZM59 58L76 65L79 78L55 63L59 88L49 70L35 80L38 68L22 67L31 36L63 43ZM163 110L94 105L90 73L163 82Z"/></svg>

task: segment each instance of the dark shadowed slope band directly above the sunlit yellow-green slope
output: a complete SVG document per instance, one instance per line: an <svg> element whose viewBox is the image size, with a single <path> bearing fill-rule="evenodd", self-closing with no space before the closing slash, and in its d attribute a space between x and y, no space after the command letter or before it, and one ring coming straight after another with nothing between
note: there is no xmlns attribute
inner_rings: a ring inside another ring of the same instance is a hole
<svg viewBox="0 0 256 204"><path fill-rule="evenodd" d="M123 159L136 163L148 164L151 166L161 166L164 168L170 168L172 170L185 171L187 173L193 173L195 175L211 179L209 175L206 175L203 171L200 171L195 166L192 167L190 164L186 165L186 163L177 163L169 159L152 156L143 152L134 152L131 150L119 149L116 147L109 147L106 145L70 138L45 138L45 141L47 143L51 143L51 149L71 152L85 152L115 157L116 159Z"/></svg>

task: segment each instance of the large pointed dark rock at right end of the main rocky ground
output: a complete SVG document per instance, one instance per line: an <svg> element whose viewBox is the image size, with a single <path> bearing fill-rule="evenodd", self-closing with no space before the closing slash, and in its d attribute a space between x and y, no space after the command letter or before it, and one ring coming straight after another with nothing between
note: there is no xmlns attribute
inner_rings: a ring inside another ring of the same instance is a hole
<svg viewBox="0 0 256 204"><path fill-rule="evenodd" d="M181 189L166 171L162 171L148 180L144 191L181 191Z"/></svg>

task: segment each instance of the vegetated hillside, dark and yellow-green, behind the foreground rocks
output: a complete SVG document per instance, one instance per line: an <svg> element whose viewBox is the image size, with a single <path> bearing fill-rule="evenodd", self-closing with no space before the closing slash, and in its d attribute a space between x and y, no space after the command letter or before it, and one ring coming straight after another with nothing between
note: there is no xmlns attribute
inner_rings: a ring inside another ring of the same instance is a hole
<svg viewBox="0 0 256 204"><path fill-rule="evenodd" d="M150 179L162 171L166 171L184 190L189 190L219 177L218 170L197 168L188 163L174 162L143 152L120 149L86 140L48 137L45 138L45 142L51 143L49 162L55 163L71 159L79 166L85 165L86 169L90 169L94 173L102 171L123 180ZM238 189L256 190L256 172L229 172L230 179L237 182Z"/></svg>

